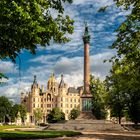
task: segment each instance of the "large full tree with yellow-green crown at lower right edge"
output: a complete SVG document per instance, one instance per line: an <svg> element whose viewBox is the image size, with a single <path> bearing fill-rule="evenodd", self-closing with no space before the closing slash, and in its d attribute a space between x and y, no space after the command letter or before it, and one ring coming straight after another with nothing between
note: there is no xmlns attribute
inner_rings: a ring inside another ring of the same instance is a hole
<svg viewBox="0 0 140 140"><path fill-rule="evenodd" d="M135 123L140 122L140 87L138 72L134 64L127 59L116 61L113 64L111 75L107 77L109 95L108 103L116 117L126 115Z"/></svg>

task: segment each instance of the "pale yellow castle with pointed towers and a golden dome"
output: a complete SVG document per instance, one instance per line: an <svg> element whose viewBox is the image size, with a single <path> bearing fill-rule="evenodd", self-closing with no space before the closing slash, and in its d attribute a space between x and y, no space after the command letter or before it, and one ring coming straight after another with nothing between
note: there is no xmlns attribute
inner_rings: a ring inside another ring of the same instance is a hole
<svg viewBox="0 0 140 140"><path fill-rule="evenodd" d="M48 113L54 107L60 108L65 113L65 118L68 120L70 111L73 108L81 110L81 98L83 87L68 87L64 82L63 75L58 83L55 75L52 74L47 82L47 88L38 84L36 76L34 76L31 92L26 94L21 93L21 104L27 108L27 122L34 123L34 110L39 108L43 112L42 122L46 122Z"/></svg>

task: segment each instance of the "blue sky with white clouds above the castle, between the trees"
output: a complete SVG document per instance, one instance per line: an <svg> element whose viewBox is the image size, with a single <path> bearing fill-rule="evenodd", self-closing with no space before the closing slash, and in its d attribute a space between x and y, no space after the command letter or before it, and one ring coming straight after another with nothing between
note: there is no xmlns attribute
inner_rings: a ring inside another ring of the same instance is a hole
<svg viewBox="0 0 140 140"><path fill-rule="evenodd" d="M109 7L105 12L97 12L100 7L106 5ZM83 85L84 21L88 23L91 35L91 74L101 80L105 79L109 75L111 63L103 61L116 54L116 50L109 49L109 46L116 39L115 30L129 12L116 7L112 0L74 0L73 4L66 4L65 13L75 21L74 33L69 35L71 41L66 44L55 44L51 41L50 46L39 46L36 55L22 51L21 62L17 58L16 64L0 60L0 72L9 77L6 84L0 87L0 96L4 95L19 103L20 93L30 91L34 75L37 76L38 83L45 88L52 73L55 73L58 83L63 74L68 86Z"/></svg>

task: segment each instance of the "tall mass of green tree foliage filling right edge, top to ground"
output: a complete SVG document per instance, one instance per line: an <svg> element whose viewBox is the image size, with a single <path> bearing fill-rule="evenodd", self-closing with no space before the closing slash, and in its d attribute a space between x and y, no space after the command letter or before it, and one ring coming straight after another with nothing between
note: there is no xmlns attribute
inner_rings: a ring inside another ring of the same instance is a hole
<svg viewBox="0 0 140 140"><path fill-rule="evenodd" d="M138 123L140 122L140 1L114 1L124 10L131 9L131 13L116 30L117 38L111 46L117 50L117 55L113 57L113 67L108 77L112 92L109 96L113 99L119 97L118 106L114 104L116 102L113 103L115 112L118 110L117 112L122 116L124 106L127 106L125 109L128 116L134 123Z"/></svg>

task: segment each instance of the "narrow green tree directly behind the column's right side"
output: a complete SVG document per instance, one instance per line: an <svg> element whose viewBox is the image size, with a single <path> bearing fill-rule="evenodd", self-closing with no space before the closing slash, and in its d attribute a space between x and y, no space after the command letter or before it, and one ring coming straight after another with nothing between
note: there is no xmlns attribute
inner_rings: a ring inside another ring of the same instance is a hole
<svg viewBox="0 0 140 140"><path fill-rule="evenodd" d="M93 115L97 119L104 119L106 116L105 97L107 94L104 82L100 81L99 78L95 79L95 77L91 75L90 91L93 95L92 97Z"/></svg>

